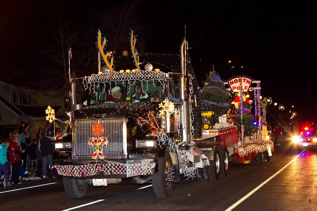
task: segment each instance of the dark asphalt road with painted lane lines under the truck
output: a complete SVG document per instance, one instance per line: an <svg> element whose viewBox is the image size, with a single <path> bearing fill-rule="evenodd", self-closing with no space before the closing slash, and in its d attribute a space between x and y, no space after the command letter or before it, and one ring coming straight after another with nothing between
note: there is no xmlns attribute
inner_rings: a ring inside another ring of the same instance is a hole
<svg viewBox="0 0 317 211"><path fill-rule="evenodd" d="M88 186L85 197L74 200L59 178L28 181L0 189L0 209L317 210L317 150L284 144L262 165L230 164L229 176L219 181L182 178L169 198L156 198L149 185Z"/></svg>

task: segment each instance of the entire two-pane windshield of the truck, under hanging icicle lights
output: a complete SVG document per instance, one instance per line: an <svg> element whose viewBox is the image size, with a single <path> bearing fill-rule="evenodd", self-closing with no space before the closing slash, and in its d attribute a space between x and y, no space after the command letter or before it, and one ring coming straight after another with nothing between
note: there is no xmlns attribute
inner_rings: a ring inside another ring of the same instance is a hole
<svg viewBox="0 0 317 211"><path fill-rule="evenodd" d="M126 89L126 92L124 92ZM99 86L91 88L88 96L88 105L106 104L112 102L160 102L164 99L164 87L159 80L126 81L126 86L122 81L117 81L116 84L99 83ZM125 96L123 96L126 93Z"/></svg>

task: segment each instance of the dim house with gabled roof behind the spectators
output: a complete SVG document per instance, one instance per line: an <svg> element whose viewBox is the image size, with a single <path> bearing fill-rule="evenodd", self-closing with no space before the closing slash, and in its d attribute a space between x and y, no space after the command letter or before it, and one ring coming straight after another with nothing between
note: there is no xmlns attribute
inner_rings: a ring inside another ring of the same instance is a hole
<svg viewBox="0 0 317 211"><path fill-rule="evenodd" d="M52 91L41 91L23 86L15 86L0 81L0 125L29 123L35 127L48 125L45 110L48 106L55 110L55 117L69 120L68 99Z"/></svg>

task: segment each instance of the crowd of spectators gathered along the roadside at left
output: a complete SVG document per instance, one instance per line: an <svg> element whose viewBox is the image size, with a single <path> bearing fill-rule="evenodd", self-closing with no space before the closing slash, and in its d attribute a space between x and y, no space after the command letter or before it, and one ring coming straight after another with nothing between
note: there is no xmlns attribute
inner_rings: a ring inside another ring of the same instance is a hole
<svg viewBox="0 0 317 211"><path fill-rule="evenodd" d="M58 131L56 128L55 134ZM36 176L48 178L48 169L53 175L54 125L40 127L36 134L33 125L24 124L8 133L0 137L0 177L3 188L22 184L25 175L29 174L27 165L33 163L37 163ZM27 160L33 162L28 163Z"/></svg>

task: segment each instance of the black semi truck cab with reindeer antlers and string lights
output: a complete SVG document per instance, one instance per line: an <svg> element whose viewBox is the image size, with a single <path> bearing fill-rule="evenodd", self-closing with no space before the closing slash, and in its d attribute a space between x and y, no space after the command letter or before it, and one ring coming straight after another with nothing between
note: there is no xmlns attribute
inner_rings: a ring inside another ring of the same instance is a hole
<svg viewBox="0 0 317 211"><path fill-rule="evenodd" d="M135 43L131 31L132 56L113 58L99 31L98 74L70 80L72 131L55 140L53 155L68 197L84 196L88 184L126 182L152 182L155 195L167 197L181 175L227 176L228 150L202 136L200 89L186 39L179 54L139 57ZM76 101L80 83L89 93L87 105ZM197 145L202 138L204 151Z"/></svg>

